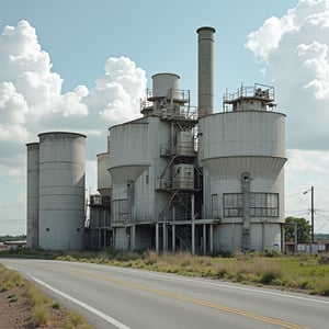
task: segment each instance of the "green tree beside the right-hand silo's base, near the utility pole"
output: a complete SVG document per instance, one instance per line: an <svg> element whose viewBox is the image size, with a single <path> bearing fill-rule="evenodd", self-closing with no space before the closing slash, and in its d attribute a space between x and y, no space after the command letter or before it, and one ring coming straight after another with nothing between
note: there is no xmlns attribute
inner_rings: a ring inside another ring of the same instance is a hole
<svg viewBox="0 0 329 329"><path fill-rule="evenodd" d="M311 242L311 226L305 218L298 217L286 217L285 224L291 224L285 226L285 240L287 242L295 241L295 227L294 223L297 223L297 242L298 243L309 243Z"/></svg>

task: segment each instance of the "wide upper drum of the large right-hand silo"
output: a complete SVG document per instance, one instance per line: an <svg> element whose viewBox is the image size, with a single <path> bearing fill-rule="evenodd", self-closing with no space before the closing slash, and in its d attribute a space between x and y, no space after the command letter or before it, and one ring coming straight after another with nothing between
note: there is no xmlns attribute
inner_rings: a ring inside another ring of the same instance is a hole
<svg viewBox="0 0 329 329"><path fill-rule="evenodd" d="M285 115L282 113L237 111L202 117L198 137L200 160L213 174L236 174L240 164L243 171L252 170L253 163L242 163L242 157L285 159ZM239 163L234 162L234 167L220 166L236 157ZM265 167L258 170L269 172Z"/></svg>

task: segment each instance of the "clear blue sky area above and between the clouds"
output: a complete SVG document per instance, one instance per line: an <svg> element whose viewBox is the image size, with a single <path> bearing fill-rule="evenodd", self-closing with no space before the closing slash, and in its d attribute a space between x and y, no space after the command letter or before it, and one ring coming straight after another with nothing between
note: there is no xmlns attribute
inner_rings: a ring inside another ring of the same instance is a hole
<svg viewBox="0 0 329 329"><path fill-rule="evenodd" d="M2 0L3 1L3 0ZM147 71L181 76L181 86L196 94L196 29L216 29L215 89L220 107L225 88L264 80L253 55L245 48L247 34L271 15L281 16L296 0L70 0L3 1L0 25L27 20L63 90L93 87L107 57L127 56Z"/></svg>

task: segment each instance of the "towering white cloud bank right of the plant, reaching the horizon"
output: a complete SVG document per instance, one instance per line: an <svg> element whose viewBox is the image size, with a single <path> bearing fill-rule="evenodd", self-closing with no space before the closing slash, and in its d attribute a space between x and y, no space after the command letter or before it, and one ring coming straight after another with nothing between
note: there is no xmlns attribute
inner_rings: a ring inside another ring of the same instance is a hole
<svg viewBox="0 0 329 329"><path fill-rule="evenodd" d="M285 216L310 219L315 188L315 231L328 231L329 0L299 0L281 18L249 33L246 47L272 75L277 110L287 114Z"/></svg>

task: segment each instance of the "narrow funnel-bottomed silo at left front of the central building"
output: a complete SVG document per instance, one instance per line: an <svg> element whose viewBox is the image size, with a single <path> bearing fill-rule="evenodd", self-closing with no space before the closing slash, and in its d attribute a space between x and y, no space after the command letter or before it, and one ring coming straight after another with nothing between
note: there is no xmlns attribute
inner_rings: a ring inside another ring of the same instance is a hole
<svg viewBox="0 0 329 329"><path fill-rule="evenodd" d="M111 220L115 226L116 249L129 249L134 243L134 230L127 226L135 224L135 188L138 178L149 167L148 124L137 120L112 126L110 174L112 182ZM131 240L132 238L132 240Z"/></svg>

